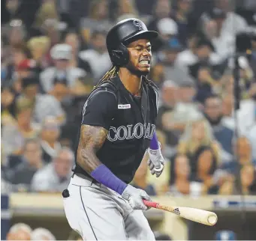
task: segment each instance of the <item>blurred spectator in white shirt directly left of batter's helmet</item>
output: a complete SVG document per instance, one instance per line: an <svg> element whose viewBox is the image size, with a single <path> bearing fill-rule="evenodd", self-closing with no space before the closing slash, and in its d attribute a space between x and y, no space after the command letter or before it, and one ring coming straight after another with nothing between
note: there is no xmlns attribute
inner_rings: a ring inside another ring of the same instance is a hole
<svg viewBox="0 0 256 241"><path fill-rule="evenodd" d="M80 58L89 64L92 70L92 76L96 82L111 67L110 57L106 46L105 30L95 30L92 32L90 49L79 53ZM101 66L99 68L99 66Z"/></svg>

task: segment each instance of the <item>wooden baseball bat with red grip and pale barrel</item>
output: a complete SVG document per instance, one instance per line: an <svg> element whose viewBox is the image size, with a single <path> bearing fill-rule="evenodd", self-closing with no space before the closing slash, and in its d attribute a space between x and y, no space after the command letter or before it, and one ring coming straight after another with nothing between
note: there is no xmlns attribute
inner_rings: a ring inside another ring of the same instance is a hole
<svg viewBox="0 0 256 241"><path fill-rule="evenodd" d="M199 222L203 225L213 226L218 220L218 216L215 213L200 210L192 207L168 207L162 204L158 204L154 201L143 200L147 207L154 207L158 210L164 210L170 213L174 213L184 219L191 220L193 222Z"/></svg>

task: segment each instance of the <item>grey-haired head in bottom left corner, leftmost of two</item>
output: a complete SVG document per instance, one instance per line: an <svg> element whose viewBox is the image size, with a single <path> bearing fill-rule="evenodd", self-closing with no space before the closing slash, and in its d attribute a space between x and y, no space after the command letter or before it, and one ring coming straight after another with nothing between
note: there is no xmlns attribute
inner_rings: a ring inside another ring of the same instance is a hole
<svg viewBox="0 0 256 241"><path fill-rule="evenodd" d="M32 228L24 223L17 223L11 226L7 240L31 240Z"/></svg>

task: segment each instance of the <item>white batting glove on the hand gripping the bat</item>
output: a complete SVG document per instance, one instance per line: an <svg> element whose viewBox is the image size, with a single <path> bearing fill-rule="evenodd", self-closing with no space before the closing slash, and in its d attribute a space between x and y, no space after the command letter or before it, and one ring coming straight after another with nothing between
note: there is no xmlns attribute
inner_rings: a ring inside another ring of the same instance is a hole
<svg viewBox="0 0 256 241"><path fill-rule="evenodd" d="M128 185L124 192L122 192L122 198L127 200L134 210L148 210L149 207L143 203L143 199L152 201L149 195L142 189L136 189L134 186Z"/></svg>

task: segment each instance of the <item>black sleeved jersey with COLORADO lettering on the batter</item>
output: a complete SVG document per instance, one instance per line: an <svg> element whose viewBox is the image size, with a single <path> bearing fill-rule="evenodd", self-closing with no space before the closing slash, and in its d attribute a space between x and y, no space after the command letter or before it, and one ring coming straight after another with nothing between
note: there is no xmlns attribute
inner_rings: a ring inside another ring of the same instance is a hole
<svg viewBox="0 0 256 241"><path fill-rule="evenodd" d="M108 130L98 159L125 183L133 179L155 132L157 88L143 81L141 100L135 98L116 76L92 91L83 107L82 124ZM78 164L75 172L86 174Z"/></svg>

